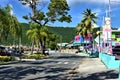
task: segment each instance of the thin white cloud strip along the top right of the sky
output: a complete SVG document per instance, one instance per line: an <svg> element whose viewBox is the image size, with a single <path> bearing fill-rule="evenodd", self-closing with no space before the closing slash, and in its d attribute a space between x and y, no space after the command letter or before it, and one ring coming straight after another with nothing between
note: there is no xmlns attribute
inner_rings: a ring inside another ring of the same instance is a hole
<svg viewBox="0 0 120 80"><path fill-rule="evenodd" d="M94 3L94 4L108 4L109 0L67 0L68 4L74 5L78 3ZM120 0L110 0L111 4L120 4Z"/></svg>

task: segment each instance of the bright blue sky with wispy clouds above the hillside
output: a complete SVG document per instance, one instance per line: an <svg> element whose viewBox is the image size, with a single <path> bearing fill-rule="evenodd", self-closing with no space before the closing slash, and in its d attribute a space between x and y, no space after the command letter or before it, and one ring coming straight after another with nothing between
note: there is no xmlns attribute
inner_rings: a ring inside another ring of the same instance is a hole
<svg viewBox="0 0 120 80"><path fill-rule="evenodd" d="M41 0L44 2L45 8L43 11L47 10L47 4L49 0ZM57 1L57 0L56 0ZM50 26L62 26L62 27L76 27L82 19L82 12L87 8L91 9L92 12L96 12L98 19L96 20L97 24L95 27L103 25L103 18L106 16L106 10L108 9L109 0L67 0L67 3L70 7L69 14L72 17L72 22L55 22L49 23ZM111 9L111 26L113 28L120 27L120 0L110 0L110 9ZM18 0L0 0L0 5L5 7L7 4L10 4L13 8L13 15L17 17L19 22L27 22L22 16L25 16L31 12L28 6L23 6ZM44 5L43 4L43 5Z"/></svg>

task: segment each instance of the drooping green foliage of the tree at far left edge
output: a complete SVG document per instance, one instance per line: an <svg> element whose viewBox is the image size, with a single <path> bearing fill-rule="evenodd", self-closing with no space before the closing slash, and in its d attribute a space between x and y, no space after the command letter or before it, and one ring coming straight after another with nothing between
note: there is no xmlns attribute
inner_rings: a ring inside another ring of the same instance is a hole
<svg viewBox="0 0 120 80"><path fill-rule="evenodd" d="M19 22L15 16L11 14L12 7L10 5L5 6L4 8L0 7L0 37L1 40L7 40L8 35L11 34L16 38L19 38L21 35L21 28Z"/></svg>

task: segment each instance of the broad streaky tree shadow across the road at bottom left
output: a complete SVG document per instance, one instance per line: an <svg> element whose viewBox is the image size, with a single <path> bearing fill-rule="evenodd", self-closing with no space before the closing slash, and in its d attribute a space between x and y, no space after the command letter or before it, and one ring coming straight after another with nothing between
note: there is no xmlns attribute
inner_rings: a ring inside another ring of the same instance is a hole
<svg viewBox="0 0 120 80"><path fill-rule="evenodd" d="M60 77L64 77L62 72L67 70L69 70L69 68L50 68L49 66L8 66L4 67L3 70L0 70L0 80L26 80L26 77L29 76L29 80L40 80L44 78L47 80L59 80ZM43 73L43 75L41 75L41 73Z"/></svg>

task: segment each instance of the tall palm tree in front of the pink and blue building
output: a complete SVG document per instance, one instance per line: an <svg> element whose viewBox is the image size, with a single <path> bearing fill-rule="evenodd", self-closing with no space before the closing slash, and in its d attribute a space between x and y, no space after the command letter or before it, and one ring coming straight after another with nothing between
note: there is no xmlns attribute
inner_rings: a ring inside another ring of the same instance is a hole
<svg viewBox="0 0 120 80"><path fill-rule="evenodd" d="M88 38L89 34L93 33L93 24L96 24L95 20L98 17L95 12L91 12L91 9L86 9L82 14L83 19L81 23L77 25L77 34L82 35L84 38Z"/></svg>

